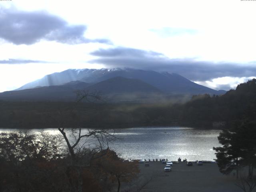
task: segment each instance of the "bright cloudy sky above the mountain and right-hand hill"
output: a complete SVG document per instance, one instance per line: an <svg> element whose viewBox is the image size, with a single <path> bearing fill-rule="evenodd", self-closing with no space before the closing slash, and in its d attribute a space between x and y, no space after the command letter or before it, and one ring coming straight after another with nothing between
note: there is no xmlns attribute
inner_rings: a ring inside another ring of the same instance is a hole
<svg viewBox="0 0 256 192"><path fill-rule="evenodd" d="M0 0L0 92L69 68L256 77L255 0Z"/></svg>

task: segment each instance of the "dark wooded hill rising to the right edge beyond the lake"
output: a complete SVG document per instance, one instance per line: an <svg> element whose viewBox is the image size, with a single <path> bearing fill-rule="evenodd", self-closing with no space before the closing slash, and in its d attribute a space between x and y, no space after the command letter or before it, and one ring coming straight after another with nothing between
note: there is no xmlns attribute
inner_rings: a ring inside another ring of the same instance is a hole
<svg viewBox="0 0 256 192"><path fill-rule="evenodd" d="M256 116L256 79L239 84L222 96L195 96L182 106L181 120L188 125L211 127L222 122L227 127Z"/></svg>

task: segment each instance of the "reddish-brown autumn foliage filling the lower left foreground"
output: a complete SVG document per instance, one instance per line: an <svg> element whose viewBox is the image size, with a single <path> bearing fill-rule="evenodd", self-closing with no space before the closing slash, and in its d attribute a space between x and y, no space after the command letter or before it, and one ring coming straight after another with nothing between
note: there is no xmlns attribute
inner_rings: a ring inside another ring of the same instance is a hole
<svg viewBox="0 0 256 192"><path fill-rule="evenodd" d="M49 139L50 138L50 139ZM122 182L136 178L138 165L119 158L112 150L92 156L90 164L70 164L70 154L60 148L58 137L46 133L2 133L0 137L0 192L119 191ZM78 174L81 171L81 175Z"/></svg>

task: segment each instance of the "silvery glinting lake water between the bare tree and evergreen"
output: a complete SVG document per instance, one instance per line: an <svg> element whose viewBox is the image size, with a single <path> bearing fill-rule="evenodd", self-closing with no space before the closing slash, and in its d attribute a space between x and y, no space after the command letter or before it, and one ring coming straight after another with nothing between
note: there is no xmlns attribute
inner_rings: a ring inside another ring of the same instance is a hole
<svg viewBox="0 0 256 192"><path fill-rule="evenodd" d="M6 129L0 129L0 132ZM35 131L35 130L33 130ZM57 129L45 129L57 134ZM220 146L220 130L198 130L187 127L142 127L116 129L119 138L109 144L125 159L168 158L177 160L214 160L213 147Z"/></svg>

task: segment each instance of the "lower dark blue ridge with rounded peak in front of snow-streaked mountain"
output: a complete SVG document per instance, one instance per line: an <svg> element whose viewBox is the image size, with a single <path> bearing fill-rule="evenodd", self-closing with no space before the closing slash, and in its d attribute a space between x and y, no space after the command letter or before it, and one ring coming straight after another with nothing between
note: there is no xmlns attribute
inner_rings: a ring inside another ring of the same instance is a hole
<svg viewBox="0 0 256 192"><path fill-rule="evenodd" d="M107 96L110 102L121 100L136 102L154 97L154 94L162 94L160 90L141 80L114 77L96 84L72 81L64 85L7 91L0 93L0 99L19 101L74 101L77 90L98 92L101 95Z"/></svg>

